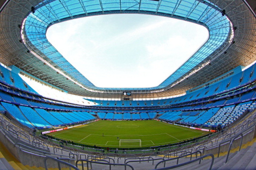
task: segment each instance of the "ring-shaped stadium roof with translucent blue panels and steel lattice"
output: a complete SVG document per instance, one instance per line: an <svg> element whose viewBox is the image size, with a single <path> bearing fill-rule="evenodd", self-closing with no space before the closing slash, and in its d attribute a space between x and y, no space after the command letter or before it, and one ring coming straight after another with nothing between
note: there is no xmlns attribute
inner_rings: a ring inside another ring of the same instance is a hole
<svg viewBox="0 0 256 170"><path fill-rule="evenodd" d="M210 37L159 86L128 89L94 86L46 39L47 28L55 23L120 13L151 14L194 22L208 28ZM181 94L255 60L255 16L242 0L14 0L6 1L0 22L2 63L15 65L69 93L91 97L120 98L122 91L131 91L132 97L141 98Z"/></svg>

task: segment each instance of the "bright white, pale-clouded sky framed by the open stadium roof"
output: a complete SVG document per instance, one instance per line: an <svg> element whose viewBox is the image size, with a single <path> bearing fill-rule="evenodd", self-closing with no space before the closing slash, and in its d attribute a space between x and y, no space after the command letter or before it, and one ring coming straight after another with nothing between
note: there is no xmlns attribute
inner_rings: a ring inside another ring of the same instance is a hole
<svg viewBox="0 0 256 170"><path fill-rule="evenodd" d="M97 87L160 85L209 38L202 25L145 14L111 14L54 24L47 39Z"/></svg>

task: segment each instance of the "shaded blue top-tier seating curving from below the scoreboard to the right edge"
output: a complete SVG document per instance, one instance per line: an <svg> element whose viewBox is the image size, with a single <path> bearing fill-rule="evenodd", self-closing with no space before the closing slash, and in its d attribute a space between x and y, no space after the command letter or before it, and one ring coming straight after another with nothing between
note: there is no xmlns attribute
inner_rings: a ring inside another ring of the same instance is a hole
<svg viewBox="0 0 256 170"><path fill-rule="evenodd" d="M98 106L109 107L143 107L143 106L161 106L169 104L178 104L182 102L192 101L195 99L211 96L213 94L221 93L223 91L238 87L253 81L256 78L256 66L255 64L247 68L243 72L239 72L228 76L220 81L217 81L209 86L203 86L194 92L187 93L184 96L161 99L161 100L147 100L147 101L104 101L104 100L90 100L98 104Z"/></svg>

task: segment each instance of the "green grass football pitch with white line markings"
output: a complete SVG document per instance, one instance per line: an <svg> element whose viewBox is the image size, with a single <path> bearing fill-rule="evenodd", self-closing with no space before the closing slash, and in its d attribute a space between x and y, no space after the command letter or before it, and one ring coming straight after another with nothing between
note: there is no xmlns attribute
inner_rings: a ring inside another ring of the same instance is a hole
<svg viewBox="0 0 256 170"><path fill-rule="evenodd" d="M156 120L100 120L75 128L49 133L48 135L92 146L129 148L140 147L140 144L138 141L131 141L121 142L120 145L119 140L140 139L141 147L149 147L173 144L207 133L209 132L175 126Z"/></svg>

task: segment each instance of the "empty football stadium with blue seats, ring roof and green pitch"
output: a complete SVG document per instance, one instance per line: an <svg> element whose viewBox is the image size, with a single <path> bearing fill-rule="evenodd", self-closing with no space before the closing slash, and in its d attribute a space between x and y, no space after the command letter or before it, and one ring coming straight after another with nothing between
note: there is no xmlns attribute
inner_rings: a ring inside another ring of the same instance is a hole
<svg viewBox="0 0 256 170"><path fill-rule="evenodd" d="M1 1L0 169L256 169L255 9L255 0ZM158 86L98 87L46 32L108 14L177 19L209 37Z"/></svg>

